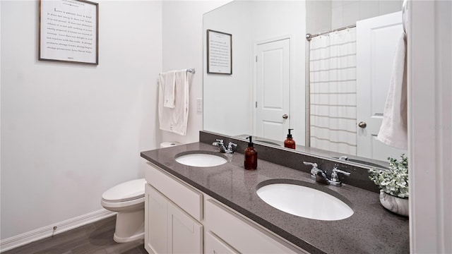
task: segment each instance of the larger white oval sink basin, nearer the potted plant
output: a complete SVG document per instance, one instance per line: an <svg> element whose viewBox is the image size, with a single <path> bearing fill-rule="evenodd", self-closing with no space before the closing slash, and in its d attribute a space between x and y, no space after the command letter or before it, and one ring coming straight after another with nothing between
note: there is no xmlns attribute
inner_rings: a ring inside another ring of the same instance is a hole
<svg viewBox="0 0 452 254"><path fill-rule="evenodd" d="M323 191L289 183L273 183L258 188L259 198L278 210L299 217L334 221L353 214L342 200Z"/></svg>

